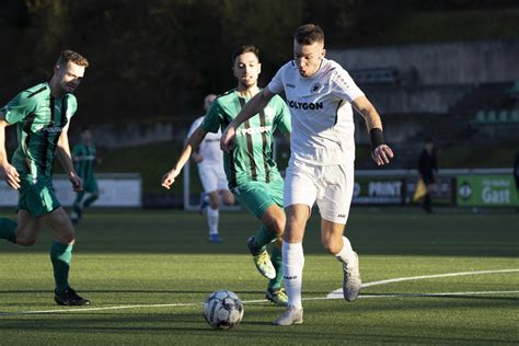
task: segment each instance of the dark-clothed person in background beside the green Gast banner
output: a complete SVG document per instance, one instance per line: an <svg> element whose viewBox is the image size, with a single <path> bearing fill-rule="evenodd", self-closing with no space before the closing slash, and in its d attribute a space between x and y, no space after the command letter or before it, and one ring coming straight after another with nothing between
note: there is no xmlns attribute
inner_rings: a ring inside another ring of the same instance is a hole
<svg viewBox="0 0 519 346"><path fill-rule="evenodd" d="M418 160L418 173L426 186L423 208L426 212L432 212L432 194L435 192L435 175L438 172L438 165L436 162L436 150L435 143L431 139L425 141L425 148L422 151Z"/></svg>

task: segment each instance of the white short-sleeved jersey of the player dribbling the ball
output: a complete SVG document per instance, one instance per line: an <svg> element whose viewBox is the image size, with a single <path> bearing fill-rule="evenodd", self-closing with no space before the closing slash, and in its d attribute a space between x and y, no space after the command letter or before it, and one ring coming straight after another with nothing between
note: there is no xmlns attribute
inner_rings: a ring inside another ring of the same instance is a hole
<svg viewBox="0 0 519 346"><path fill-rule="evenodd" d="M305 78L293 60L289 61L277 71L268 90L276 94L285 91L295 159L318 165L355 160L350 102L364 93L341 65L323 59L319 71Z"/></svg>

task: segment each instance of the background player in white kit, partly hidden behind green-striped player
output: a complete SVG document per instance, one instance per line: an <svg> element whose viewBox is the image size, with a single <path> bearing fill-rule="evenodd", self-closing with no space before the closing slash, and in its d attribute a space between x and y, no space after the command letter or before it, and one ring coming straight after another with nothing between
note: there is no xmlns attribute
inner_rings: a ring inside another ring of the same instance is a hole
<svg viewBox="0 0 519 346"><path fill-rule="evenodd" d="M207 112L209 109L215 99L215 94L208 94L204 99L204 111ZM187 138L201 125L203 120L204 116L195 119L187 132ZM226 172L223 171L223 153L220 149L220 130L217 134L208 132L198 147L198 151L192 153L192 159L198 166L198 175L200 176L204 192L209 197L209 206L206 214L207 226L209 227L209 242L211 243L222 242L222 238L218 232L221 201L228 206L234 204L234 195L228 188Z"/></svg>

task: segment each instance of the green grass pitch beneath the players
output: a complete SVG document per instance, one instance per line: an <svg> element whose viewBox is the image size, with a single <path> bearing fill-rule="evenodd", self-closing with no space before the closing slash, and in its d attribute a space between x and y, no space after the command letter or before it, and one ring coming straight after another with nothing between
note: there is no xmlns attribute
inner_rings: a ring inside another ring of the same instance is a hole
<svg viewBox="0 0 519 346"><path fill-rule="evenodd" d="M92 301L86 309L54 303L48 230L32 249L0 243L0 345L519 343L518 214L353 208L346 234L369 285L353 303L325 299L342 272L320 244L315 215L304 241L302 325L272 325L284 310L264 300L266 279L245 246L258 222L245 212L221 212L224 242L210 244L194 212L91 209L77 228L70 277ZM449 273L465 275L435 277ZM417 276L425 277L397 280ZM230 331L211 330L201 315L217 289L245 301Z"/></svg>

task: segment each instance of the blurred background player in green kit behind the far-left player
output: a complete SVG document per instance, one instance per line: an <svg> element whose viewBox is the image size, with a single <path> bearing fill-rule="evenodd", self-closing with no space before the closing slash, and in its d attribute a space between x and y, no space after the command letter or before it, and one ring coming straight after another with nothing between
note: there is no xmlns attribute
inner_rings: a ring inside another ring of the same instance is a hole
<svg viewBox="0 0 519 346"><path fill-rule="evenodd" d="M76 172L83 180L83 189L77 192L72 212L70 214L70 220L74 223L81 219L83 208L91 206L100 197L97 181L94 176L94 165L101 163L101 160L96 154L97 151L92 141L92 130L90 127L83 127L81 129L81 141L72 148ZM83 200L86 193L90 195Z"/></svg>

